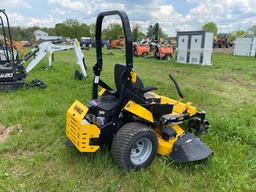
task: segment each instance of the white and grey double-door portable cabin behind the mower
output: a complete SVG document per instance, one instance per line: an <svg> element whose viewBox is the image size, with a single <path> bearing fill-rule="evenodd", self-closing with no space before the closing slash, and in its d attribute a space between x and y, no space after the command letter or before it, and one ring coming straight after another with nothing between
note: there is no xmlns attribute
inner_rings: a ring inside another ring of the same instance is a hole
<svg viewBox="0 0 256 192"><path fill-rule="evenodd" d="M177 32L176 62L186 64L211 65L212 46L212 32Z"/></svg>

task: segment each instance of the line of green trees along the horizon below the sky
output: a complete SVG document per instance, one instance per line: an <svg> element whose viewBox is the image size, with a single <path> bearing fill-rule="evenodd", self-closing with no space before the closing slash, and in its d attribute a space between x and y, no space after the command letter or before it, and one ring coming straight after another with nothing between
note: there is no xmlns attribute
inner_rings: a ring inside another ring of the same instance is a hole
<svg viewBox="0 0 256 192"><path fill-rule="evenodd" d="M159 23L155 23L154 25L149 25L147 28L147 32L144 34L140 30L139 24L134 24L132 26L132 35L133 40L138 41L145 36L152 39L159 38L167 38L167 34L163 32ZM216 36L218 33L218 27L214 22L206 23L202 26L202 29L212 31ZM13 40L21 41L21 40L33 40L33 32L35 30L42 30L47 32L49 35L58 35L63 37L77 38L81 37L91 37L94 38L95 35L95 24L86 24L81 23L76 19L67 19L62 23L57 23L54 27L11 27ZM256 36L256 25L252 26L248 31L234 31L228 34L229 40L233 41L236 36L243 36L251 33ZM2 32L0 32L1 34ZM118 39L123 37L123 29L122 26L118 23L111 23L102 31L103 39Z"/></svg>

